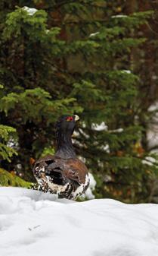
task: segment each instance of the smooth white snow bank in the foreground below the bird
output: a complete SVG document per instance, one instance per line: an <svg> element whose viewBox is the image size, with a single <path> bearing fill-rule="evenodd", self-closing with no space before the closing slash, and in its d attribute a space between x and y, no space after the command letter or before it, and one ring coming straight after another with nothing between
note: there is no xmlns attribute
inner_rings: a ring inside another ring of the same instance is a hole
<svg viewBox="0 0 158 256"><path fill-rule="evenodd" d="M157 256L158 205L0 188L0 234L1 256Z"/></svg>

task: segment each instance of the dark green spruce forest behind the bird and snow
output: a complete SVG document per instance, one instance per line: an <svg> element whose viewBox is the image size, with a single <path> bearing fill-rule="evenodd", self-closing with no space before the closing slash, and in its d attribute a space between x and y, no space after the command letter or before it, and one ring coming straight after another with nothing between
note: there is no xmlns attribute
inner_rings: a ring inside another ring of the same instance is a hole
<svg viewBox="0 0 158 256"><path fill-rule="evenodd" d="M158 202L149 137L157 24L158 1L0 2L1 185L35 182L33 161L54 153L54 122L75 113L74 147L97 181L96 198Z"/></svg>

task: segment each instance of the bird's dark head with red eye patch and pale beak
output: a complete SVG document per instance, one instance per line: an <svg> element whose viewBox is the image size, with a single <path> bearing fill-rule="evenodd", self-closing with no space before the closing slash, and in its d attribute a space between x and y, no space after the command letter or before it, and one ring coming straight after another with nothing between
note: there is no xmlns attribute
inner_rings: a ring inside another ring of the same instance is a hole
<svg viewBox="0 0 158 256"><path fill-rule="evenodd" d="M62 134L69 134L72 135L76 121L79 120L78 115L62 115L60 118L57 120L55 129L56 129L56 134L62 133Z"/></svg>

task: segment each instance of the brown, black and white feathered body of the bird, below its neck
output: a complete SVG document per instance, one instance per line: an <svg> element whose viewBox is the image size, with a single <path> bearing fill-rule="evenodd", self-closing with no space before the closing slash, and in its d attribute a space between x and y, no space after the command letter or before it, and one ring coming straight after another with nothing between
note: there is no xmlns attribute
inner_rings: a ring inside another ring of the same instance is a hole
<svg viewBox="0 0 158 256"><path fill-rule="evenodd" d="M36 161L33 172L39 189L58 194L59 198L75 199L89 185L88 169L77 158L48 155Z"/></svg>

